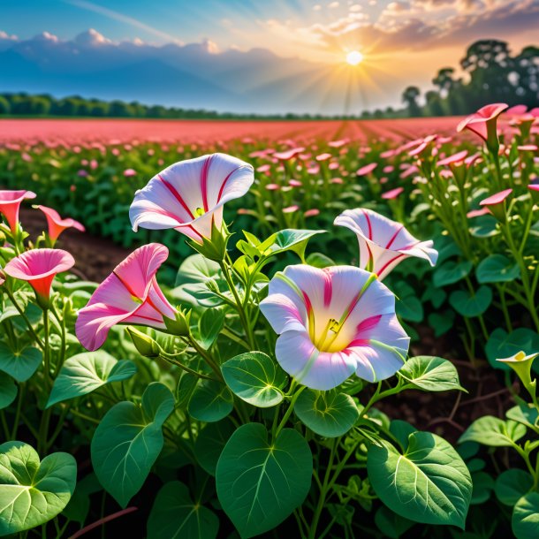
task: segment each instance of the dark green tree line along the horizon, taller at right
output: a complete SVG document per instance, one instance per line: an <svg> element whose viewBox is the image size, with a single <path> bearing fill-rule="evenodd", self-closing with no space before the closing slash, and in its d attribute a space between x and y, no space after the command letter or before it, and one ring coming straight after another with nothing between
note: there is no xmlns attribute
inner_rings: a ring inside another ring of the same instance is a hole
<svg viewBox="0 0 539 539"><path fill-rule="evenodd" d="M89 117L89 118L171 118L171 119L355 119L458 116L469 114L489 102L539 106L539 47L530 45L512 56L506 42L480 40L470 45L460 61L462 72L444 67L437 72L430 89L421 95L415 86L402 94L405 107L364 110L358 115L322 114L239 114L216 110L193 110L140 102L111 102L86 99L80 95L57 99L48 94L0 94L0 116Z"/></svg>

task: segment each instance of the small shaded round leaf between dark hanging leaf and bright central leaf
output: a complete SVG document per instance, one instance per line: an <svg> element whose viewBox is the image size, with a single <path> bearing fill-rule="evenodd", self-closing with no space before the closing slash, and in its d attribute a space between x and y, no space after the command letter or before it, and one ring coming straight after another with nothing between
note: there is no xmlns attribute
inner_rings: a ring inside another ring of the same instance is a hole
<svg viewBox="0 0 539 539"><path fill-rule="evenodd" d="M200 379L194 388L187 412L199 421L219 421L232 412L234 396L224 383Z"/></svg>

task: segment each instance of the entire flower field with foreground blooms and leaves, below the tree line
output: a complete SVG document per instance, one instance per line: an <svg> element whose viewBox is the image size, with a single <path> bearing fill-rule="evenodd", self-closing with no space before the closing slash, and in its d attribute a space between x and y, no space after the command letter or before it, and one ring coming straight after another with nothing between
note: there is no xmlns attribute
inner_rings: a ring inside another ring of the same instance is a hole
<svg viewBox="0 0 539 539"><path fill-rule="evenodd" d="M538 537L537 118L5 120L0 536Z"/></svg>

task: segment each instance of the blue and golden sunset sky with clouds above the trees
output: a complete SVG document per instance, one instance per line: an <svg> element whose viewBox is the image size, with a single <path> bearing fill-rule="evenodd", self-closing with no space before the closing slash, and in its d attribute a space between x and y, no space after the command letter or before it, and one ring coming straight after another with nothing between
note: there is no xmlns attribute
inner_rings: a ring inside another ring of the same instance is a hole
<svg viewBox="0 0 539 539"><path fill-rule="evenodd" d="M0 0L0 13L0 91L216 110L399 107L477 39L539 44L539 0Z"/></svg>

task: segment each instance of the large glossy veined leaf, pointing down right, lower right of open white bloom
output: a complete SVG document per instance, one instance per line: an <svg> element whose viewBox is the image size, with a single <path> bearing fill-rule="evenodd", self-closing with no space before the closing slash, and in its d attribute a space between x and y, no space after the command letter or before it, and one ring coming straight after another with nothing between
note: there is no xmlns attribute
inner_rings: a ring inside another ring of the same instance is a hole
<svg viewBox="0 0 539 539"><path fill-rule="evenodd" d="M414 432L408 442L403 454L385 440L369 444L368 479L376 495L406 519L464 528L472 480L459 453L429 432Z"/></svg>

